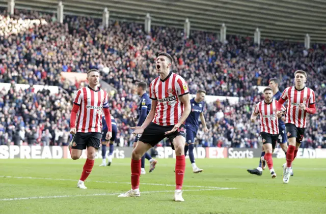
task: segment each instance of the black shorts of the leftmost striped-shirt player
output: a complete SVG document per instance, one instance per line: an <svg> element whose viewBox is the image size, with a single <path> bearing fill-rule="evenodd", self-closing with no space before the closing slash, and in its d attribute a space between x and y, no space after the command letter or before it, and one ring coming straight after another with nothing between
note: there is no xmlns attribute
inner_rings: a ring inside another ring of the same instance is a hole
<svg viewBox="0 0 326 214"><path fill-rule="evenodd" d="M99 132L77 132L72 138L71 148L83 150L89 146L99 149L102 134Z"/></svg>

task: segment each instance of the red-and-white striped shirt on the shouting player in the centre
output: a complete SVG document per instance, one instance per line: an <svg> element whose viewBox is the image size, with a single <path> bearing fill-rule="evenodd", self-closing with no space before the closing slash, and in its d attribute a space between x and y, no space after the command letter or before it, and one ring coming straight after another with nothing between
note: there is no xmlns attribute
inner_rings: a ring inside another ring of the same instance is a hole
<svg viewBox="0 0 326 214"><path fill-rule="evenodd" d="M149 85L149 98L157 100L153 123L159 126L176 125L183 113L183 103L179 97L189 94L187 82L179 75L170 72L168 77L154 79Z"/></svg>

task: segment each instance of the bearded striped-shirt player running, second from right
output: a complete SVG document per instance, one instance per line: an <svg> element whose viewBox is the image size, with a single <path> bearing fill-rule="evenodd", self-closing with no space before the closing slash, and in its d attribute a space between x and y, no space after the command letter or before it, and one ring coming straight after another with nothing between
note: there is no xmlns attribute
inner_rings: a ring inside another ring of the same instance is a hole
<svg viewBox="0 0 326 214"><path fill-rule="evenodd" d="M279 137L278 101L273 100L273 90L270 87L264 89L264 97L264 101L256 105L251 115L251 121L254 123L258 114L260 114L260 136L265 150L265 155L260 159L267 162L271 178L276 178L277 175L273 168L272 150L275 148ZM282 107L285 111L285 107Z"/></svg>

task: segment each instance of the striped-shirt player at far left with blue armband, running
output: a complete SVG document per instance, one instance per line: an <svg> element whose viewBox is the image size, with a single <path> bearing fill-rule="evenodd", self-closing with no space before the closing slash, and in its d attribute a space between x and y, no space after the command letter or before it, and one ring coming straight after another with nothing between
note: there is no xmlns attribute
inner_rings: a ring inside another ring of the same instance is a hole
<svg viewBox="0 0 326 214"><path fill-rule="evenodd" d="M92 172L96 152L102 138L102 110L104 111L107 133L105 139L112 137L111 114L108 109L106 91L99 88L100 74L96 69L87 72L89 85L77 91L70 116L70 134L74 135L69 144L71 158L77 160L87 148L87 159L77 187L87 189L84 181ZM78 115L77 125L76 116Z"/></svg>

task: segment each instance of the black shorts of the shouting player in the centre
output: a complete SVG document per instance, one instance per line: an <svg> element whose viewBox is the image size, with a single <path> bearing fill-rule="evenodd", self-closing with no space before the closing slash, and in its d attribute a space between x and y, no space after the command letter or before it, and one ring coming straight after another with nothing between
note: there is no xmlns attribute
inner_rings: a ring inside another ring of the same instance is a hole
<svg viewBox="0 0 326 214"><path fill-rule="evenodd" d="M179 130L175 131L174 133L165 135L165 132L171 131L174 126L159 126L157 124L154 124L151 122L144 130L142 136L138 139L139 141L142 141L144 143L148 143L151 146L155 146L159 141L163 140L164 138L169 138L171 141L172 149L174 149L173 146L173 139L177 136L183 136L184 139L186 137L186 129L184 128L184 125L182 124L179 128Z"/></svg>

